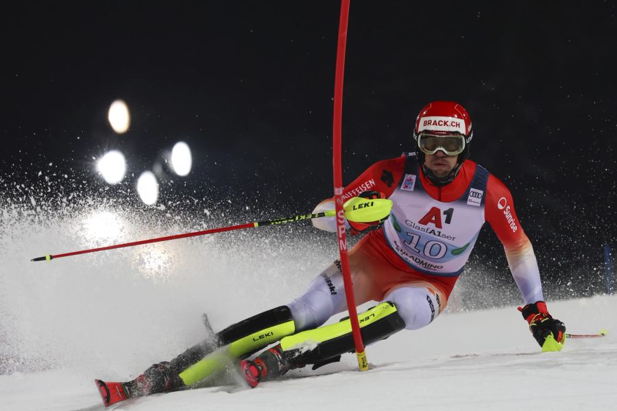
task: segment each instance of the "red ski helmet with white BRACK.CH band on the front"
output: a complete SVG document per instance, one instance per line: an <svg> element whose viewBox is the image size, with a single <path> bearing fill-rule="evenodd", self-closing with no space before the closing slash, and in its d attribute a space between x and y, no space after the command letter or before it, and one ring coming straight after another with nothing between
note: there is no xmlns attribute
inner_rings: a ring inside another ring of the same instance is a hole
<svg viewBox="0 0 617 411"><path fill-rule="evenodd" d="M463 162L469 158L469 143L474 136L472 130L471 117L465 108L455 101L433 101L420 110L418 119L415 120L415 128L413 129L413 139L418 144L418 136L420 133L433 135L450 135L455 134L464 136L465 149L459 153L457 158L457 166L452 169L450 175L446 177L437 177L431 170L424 166L424 153L419 148L416 150L416 155L422 164L422 171L437 186L444 186L455 179ZM445 151L444 151L445 152Z"/></svg>

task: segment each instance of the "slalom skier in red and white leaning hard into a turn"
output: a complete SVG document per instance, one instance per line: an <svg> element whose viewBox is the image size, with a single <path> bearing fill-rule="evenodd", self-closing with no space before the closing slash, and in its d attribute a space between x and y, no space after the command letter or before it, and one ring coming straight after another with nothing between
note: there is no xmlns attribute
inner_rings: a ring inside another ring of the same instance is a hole
<svg viewBox="0 0 617 411"><path fill-rule="evenodd" d="M433 101L415 121L415 152L376 162L344 189L343 200L359 196L394 201L385 221L347 221L352 235L367 234L349 253L356 301L380 301L359 314L366 345L401 329L426 327L444 310L488 221L503 243L524 301L519 310L533 338L544 351L563 347L566 327L548 314L533 248L508 188L468 160L472 136L472 122L462 105ZM326 199L313 212L334 208L333 199ZM335 232L334 218L312 221ZM131 397L194 384L213 371L210 353L221 347L226 356L241 359L278 342L254 360L241 360L241 373L250 386L306 364L316 368L337 361L354 351L350 321L320 326L346 308L341 267L335 262L287 305L231 325L171 362L154 364L123 387Z"/></svg>

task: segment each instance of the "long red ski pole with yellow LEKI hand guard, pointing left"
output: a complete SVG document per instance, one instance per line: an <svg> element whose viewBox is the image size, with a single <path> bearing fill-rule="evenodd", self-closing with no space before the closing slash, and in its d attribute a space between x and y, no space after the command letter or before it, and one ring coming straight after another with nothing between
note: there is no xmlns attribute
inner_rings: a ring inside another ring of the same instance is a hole
<svg viewBox="0 0 617 411"><path fill-rule="evenodd" d="M378 221L385 219L392 209L392 201L388 199L372 199L367 200L361 197L352 197L344 206L345 218L350 221L356 221L358 223L370 223L371 221ZM228 232L237 229L264 227L265 225L279 225L284 223L293 223L295 221L304 221L310 219L318 219L320 217L333 217L335 216L335 210L328 210L326 212L319 212L317 214L300 214L293 217L274 219L268 221L255 221L254 223L246 223L240 225L232 225L230 227L220 227L213 229L206 229L198 232L176 234L173 236L165 236L158 238L150 238L148 240L140 240L133 242L125 242L123 244L108 245L106 247L98 247L93 249L86 249L81 251L72 251L71 253L63 254L46 254L43 257L33 258L30 261L51 261L54 258L76 256L77 254L95 253L97 251L105 251L111 249L119 249L123 247L133 247L134 245L149 244L151 242L160 242L167 240L177 240L178 238L204 236L206 234L214 234L220 232Z"/></svg>

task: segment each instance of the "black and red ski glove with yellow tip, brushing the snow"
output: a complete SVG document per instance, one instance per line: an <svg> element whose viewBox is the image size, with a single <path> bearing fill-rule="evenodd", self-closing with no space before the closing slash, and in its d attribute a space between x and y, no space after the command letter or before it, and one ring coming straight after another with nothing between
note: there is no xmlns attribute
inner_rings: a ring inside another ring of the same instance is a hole
<svg viewBox="0 0 617 411"><path fill-rule="evenodd" d="M527 304L523 308L519 307L518 310L529 323L529 331L542 347L542 351L559 351L564 348L566 326L548 314L544 301Z"/></svg>

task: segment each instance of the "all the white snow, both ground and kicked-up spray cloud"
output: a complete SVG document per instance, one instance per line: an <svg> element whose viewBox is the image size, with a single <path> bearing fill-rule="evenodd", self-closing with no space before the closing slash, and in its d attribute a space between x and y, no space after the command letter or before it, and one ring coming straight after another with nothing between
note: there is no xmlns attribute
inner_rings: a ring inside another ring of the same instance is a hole
<svg viewBox="0 0 617 411"><path fill-rule="evenodd" d="M134 378L173 358L204 338L202 312L221 329L287 303L336 257L327 236L298 224L30 262L251 221L215 212L191 219L170 207L130 209L81 197L62 197L62 204L50 208L29 194L0 201L0 410L101 409L93 379ZM617 333L616 296L549 301L548 308L569 332ZM609 334L541 353L515 305L446 310L425 329L368 347L366 373L348 355L254 390L226 382L116 409L617 409L616 351Z"/></svg>

